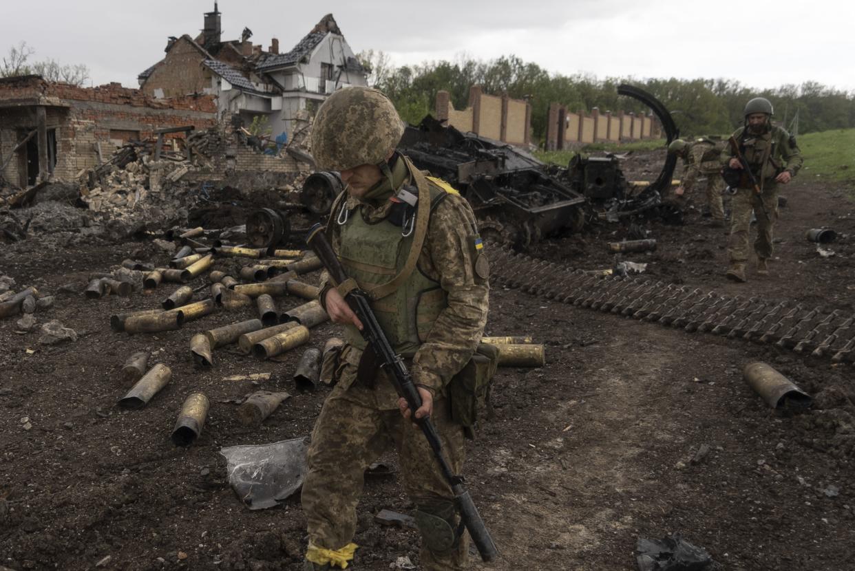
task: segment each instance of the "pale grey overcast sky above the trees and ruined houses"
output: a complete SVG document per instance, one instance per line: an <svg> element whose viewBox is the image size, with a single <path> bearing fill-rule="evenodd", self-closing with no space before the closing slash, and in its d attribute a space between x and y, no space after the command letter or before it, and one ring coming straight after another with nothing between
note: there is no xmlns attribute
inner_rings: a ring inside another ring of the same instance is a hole
<svg viewBox="0 0 855 571"><path fill-rule="evenodd" d="M0 55L85 63L91 83L136 87L168 36L195 37L209 0L0 0ZM855 91L855 3L831 0L220 0L222 38L244 27L290 50L332 12L351 48L396 65L515 54L552 73L738 79L752 87L816 80Z"/></svg>

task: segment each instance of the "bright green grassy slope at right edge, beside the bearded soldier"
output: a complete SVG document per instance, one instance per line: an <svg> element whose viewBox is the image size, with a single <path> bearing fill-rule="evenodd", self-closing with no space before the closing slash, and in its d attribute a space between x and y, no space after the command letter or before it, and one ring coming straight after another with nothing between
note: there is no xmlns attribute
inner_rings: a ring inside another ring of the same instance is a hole
<svg viewBox="0 0 855 571"><path fill-rule="evenodd" d="M797 139L805 156L799 179L855 180L855 129L809 132Z"/></svg>

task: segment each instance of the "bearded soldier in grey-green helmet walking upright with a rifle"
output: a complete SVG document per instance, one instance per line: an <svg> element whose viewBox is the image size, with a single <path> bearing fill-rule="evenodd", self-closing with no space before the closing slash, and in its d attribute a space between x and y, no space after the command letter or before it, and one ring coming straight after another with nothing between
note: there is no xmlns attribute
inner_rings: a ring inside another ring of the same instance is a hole
<svg viewBox="0 0 855 571"><path fill-rule="evenodd" d="M744 115L745 125L734 132L730 144L722 152L724 178L736 189L731 201L730 267L725 275L728 280L739 282L746 281L752 212L757 217L757 239L754 241L757 273L769 274L772 238L778 219L778 185L789 183L802 166L795 137L772 125L772 103L768 99L754 97L746 103Z"/></svg>

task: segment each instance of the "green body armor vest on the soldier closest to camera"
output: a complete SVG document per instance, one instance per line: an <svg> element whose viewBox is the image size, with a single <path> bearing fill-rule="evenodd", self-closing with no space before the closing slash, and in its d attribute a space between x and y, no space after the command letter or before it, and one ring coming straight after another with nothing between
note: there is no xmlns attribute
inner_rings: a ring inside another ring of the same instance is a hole
<svg viewBox="0 0 855 571"><path fill-rule="evenodd" d="M433 185L429 189L429 208L433 210L445 197L445 191ZM404 236L404 228L392 224L388 218L375 223L365 221L361 206L349 213L339 233L339 260L345 274L356 280L363 291L385 284L400 273L414 238L412 232ZM417 264L398 290L371 302L389 343L404 357L416 354L439 313L447 306L445 290L439 282L422 274ZM345 327L345 340L357 349L365 349L365 339L352 325Z"/></svg>

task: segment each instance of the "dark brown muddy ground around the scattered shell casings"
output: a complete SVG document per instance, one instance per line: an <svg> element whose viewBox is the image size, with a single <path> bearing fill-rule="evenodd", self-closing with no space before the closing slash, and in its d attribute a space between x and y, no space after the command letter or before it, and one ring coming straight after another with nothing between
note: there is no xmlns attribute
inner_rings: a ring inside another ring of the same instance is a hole
<svg viewBox="0 0 855 571"><path fill-rule="evenodd" d="M645 160L630 162L643 176ZM855 209L846 188L807 169L784 194L768 277L750 268L747 284L724 280L726 234L697 213L683 227L648 225L656 252L625 259L648 262L656 280L851 314ZM805 241L806 229L821 226L840 234L830 244L836 256L821 257ZM609 268L615 260L604 242L623 233L598 227L533 253ZM56 295L52 308L36 314L39 323L62 321L78 339L44 346L38 328L19 334L15 319L0 321L0 566L299 569L306 539L298 498L246 509L228 486L219 450L307 435L328 389L295 391L300 350L284 362L259 362L224 348L215 350L213 370L193 367L192 333L249 319L252 309L209 315L175 332L114 333L109 315L156 307L176 287L85 299L88 275L134 250L152 262L168 259L150 241L109 244L74 234L3 246L0 273ZM311 346L321 348L336 331L316 327ZM547 364L500 369L495 418L469 445L469 489L502 553L492 566L472 568L630 570L637 539L669 533L704 547L718 569L855 568L852 364L500 286L491 292L487 333L532 335L546 345ZM146 408L126 411L116 406L128 388L118 373L138 350L151 351L150 363L167 363L173 379ZM814 407L801 415L769 409L742 380L742 367L757 360L811 392ZM259 387L224 380L254 372L272 373L263 388L293 395L258 429L242 427L237 405L227 401ZM211 410L198 441L176 448L169 434L191 391L205 392ZM709 454L696 457L705 446ZM392 455L383 462L395 468ZM401 556L417 563L416 533L373 519L380 509L410 508L394 477L367 480L356 568L394 568Z"/></svg>

